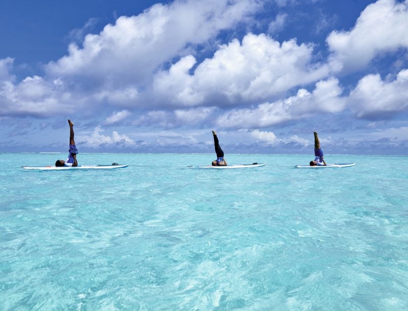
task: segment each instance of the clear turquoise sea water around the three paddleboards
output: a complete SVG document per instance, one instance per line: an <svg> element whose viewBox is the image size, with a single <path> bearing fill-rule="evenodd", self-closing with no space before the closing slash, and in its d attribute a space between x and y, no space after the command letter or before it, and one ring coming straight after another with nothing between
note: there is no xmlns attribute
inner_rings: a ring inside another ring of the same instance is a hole
<svg viewBox="0 0 408 311"><path fill-rule="evenodd" d="M408 157L0 154L1 310L406 310Z"/></svg>

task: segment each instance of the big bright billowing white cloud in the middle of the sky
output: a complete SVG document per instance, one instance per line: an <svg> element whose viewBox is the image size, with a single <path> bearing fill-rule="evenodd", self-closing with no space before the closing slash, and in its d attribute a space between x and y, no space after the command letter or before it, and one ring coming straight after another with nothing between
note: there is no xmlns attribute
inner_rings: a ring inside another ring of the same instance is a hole
<svg viewBox="0 0 408 311"><path fill-rule="evenodd" d="M325 77L328 67L313 64L312 57L311 45L298 45L295 40L280 44L265 34L247 34L242 43L233 40L221 45L193 75L189 73L196 62L193 56L160 72L153 94L160 100L170 97L170 103L181 106L255 103Z"/></svg>

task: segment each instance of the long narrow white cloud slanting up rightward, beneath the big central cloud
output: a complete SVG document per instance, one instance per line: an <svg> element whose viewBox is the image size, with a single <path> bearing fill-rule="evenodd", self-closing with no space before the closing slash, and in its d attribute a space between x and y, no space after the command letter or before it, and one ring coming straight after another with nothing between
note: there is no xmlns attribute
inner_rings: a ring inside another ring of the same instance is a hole
<svg viewBox="0 0 408 311"><path fill-rule="evenodd" d="M342 111L346 102L337 79L319 81L313 92L299 89L297 94L283 100L266 102L255 108L231 110L217 119L225 127L268 127L290 120L308 117L316 112Z"/></svg>

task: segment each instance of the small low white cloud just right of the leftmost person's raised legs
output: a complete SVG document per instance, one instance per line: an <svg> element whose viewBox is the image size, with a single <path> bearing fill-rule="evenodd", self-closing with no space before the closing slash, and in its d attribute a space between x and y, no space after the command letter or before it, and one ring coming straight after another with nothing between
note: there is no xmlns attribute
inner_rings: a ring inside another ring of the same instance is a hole
<svg viewBox="0 0 408 311"><path fill-rule="evenodd" d="M104 132L104 129L102 129L100 126L96 126L91 136L80 136L79 141L85 146L92 148L112 145L128 147L136 144L135 141L130 139L127 135L119 135L116 131L112 132L111 137L100 134L100 132Z"/></svg>

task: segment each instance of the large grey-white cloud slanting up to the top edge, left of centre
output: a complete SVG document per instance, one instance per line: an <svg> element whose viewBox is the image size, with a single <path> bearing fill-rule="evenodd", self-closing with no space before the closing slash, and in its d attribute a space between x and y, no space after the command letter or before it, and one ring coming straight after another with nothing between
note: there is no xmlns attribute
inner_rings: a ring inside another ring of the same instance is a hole
<svg viewBox="0 0 408 311"><path fill-rule="evenodd" d="M121 16L83 47L50 62L50 75L85 76L110 85L145 83L164 62L183 54L187 44L203 43L260 8L256 0L174 1L156 4L138 16ZM102 81L100 81L102 80Z"/></svg>

